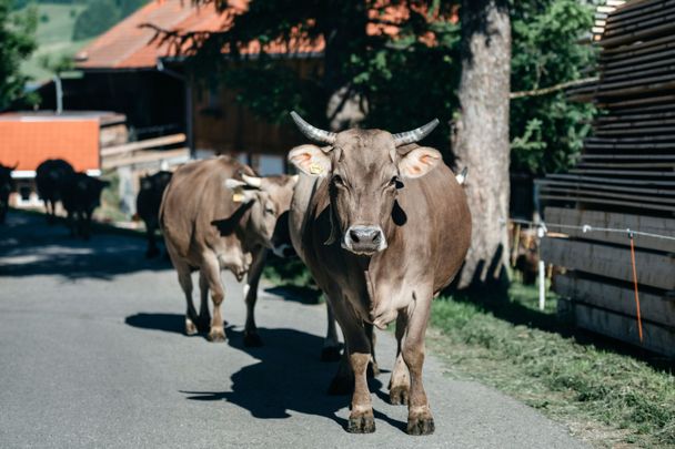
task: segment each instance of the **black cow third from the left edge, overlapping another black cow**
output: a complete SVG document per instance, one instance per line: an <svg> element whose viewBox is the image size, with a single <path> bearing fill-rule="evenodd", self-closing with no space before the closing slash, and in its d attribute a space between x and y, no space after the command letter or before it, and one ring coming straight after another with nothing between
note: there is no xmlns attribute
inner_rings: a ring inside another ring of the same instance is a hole
<svg viewBox="0 0 675 449"><path fill-rule="evenodd" d="M63 208L68 212L68 226L72 236L89 239L91 215L101 204L101 191L109 186L108 181L97 180L85 173L72 173L61 188Z"/></svg>

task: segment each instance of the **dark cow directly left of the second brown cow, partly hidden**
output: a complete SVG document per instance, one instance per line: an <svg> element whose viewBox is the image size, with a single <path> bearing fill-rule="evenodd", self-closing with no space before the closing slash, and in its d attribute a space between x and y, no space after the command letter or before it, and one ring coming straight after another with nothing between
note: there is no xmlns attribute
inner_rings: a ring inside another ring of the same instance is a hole
<svg viewBox="0 0 675 449"><path fill-rule="evenodd" d="M171 172L161 171L153 175L141 177L141 187L135 200L137 215L145 223L148 249L145 257L151 258L160 254L157 247L155 232L160 227L159 215L162 195L171 181Z"/></svg>

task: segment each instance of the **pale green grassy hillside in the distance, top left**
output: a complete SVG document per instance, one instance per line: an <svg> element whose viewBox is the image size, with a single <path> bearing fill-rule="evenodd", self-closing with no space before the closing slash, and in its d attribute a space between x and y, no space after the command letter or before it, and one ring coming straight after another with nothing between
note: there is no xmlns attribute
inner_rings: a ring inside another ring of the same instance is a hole
<svg viewBox="0 0 675 449"><path fill-rule="evenodd" d="M50 79L53 73L42 67L44 58L54 63L63 57L72 58L87 45L91 40L72 40L72 29L78 14L85 8L85 4L57 4L40 3L36 4L38 10L38 49L31 58L23 62L21 70L36 81ZM74 11L74 13L71 13ZM40 18L49 18L47 21Z"/></svg>

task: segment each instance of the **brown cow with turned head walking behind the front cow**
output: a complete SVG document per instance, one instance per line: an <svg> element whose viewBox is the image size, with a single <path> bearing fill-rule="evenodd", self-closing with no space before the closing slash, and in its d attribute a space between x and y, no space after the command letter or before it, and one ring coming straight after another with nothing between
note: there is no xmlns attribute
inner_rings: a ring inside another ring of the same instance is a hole
<svg viewBox="0 0 675 449"><path fill-rule="evenodd" d="M220 305L225 293L220 272L229 269L238 280L248 273L244 345L262 344L253 315L258 282L266 249L273 247L276 221L289 210L296 181L286 175L255 177L249 166L226 156L191 162L175 171L164 192L160 223L188 302L188 335L210 329L211 341L224 341ZM199 316L192 303L191 272L195 269L200 272Z"/></svg>

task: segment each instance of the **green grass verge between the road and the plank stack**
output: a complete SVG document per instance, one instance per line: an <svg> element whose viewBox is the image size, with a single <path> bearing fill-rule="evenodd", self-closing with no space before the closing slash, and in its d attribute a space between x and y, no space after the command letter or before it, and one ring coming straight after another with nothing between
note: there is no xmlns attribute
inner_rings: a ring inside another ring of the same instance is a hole
<svg viewBox="0 0 675 449"><path fill-rule="evenodd" d="M430 348L455 376L495 387L596 446L675 447L671 370L565 335L552 308L533 309L532 289L515 285L511 297L490 309L435 300Z"/></svg>

